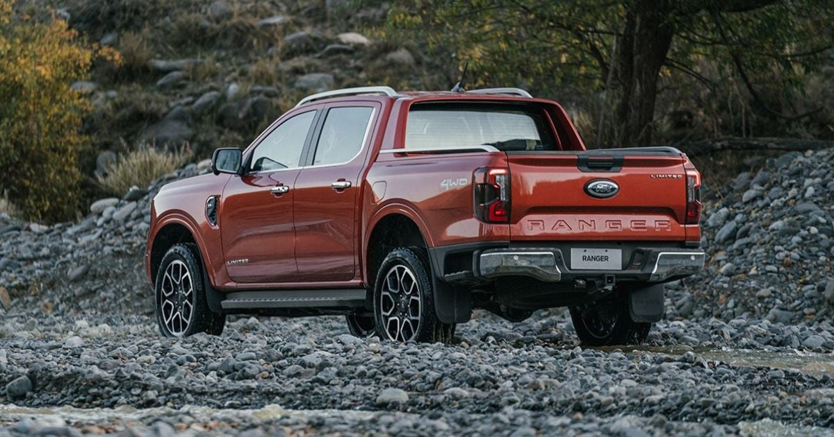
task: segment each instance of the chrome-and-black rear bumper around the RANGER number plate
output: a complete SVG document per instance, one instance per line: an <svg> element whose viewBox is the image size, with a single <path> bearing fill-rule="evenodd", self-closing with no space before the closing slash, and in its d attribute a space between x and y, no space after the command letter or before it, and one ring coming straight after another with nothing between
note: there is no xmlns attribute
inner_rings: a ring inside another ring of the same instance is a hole
<svg viewBox="0 0 834 437"><path fill-rule="evenodd" d="M529 276L539 281L575 280L665 282L691 276L704 268L701 249L636 248L622 270L571 271L558 248L501 248L475 251L475 277Z"/></svg>

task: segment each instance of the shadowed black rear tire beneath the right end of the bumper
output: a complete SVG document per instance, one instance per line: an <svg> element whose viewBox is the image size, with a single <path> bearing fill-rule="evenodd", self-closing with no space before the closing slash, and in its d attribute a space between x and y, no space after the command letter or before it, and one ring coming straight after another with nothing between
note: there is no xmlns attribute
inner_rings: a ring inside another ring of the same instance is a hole
<svg viewBox="0 0 834 437"><path fill-rule="evenodd" d="M585 305L570 307L576 335L583 345L639 345L646 341L651 323L631 320L628 291Z"/></svg>

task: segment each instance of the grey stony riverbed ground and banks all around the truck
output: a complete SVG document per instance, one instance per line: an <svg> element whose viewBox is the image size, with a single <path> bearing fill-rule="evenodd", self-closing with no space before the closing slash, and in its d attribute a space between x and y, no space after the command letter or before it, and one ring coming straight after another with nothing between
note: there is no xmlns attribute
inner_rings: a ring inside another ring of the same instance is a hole
<svg viewBox="0 0 834 437"><path fill-rule="evenodd" d="M636 348L580 347L564 310L477 312L453 345L361 340L339 317L163 339L149 201L204 162L77 223L0 216L0 435L831 435L832 156L782 156L707 202L708 270Z"/></svg>

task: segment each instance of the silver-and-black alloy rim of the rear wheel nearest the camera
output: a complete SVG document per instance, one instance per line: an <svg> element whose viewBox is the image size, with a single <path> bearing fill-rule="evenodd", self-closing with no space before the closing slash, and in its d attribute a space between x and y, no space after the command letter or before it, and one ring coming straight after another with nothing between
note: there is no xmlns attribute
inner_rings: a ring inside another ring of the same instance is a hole
<svg viewBox="0 0 834 437"><path fill-rule="evenodd" d="M389 340L405 342L417 335L423 304L420 286L408 266L391 267L385 274L379 293L379 310L382 330Z"/></svg>

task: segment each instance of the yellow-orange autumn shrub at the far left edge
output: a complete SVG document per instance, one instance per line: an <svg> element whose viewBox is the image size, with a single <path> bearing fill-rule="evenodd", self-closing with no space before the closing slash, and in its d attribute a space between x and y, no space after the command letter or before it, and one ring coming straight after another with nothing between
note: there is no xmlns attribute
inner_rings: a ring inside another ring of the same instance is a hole
<svg viewBox="0 0 834 437"><path fill-rule="evenodd" d="M80 132L90 104L70 84L87 77L98 57L118 62L108 48L88 46L67 22L26 16L13 21L12 0L0 0L0 191L23 218L70 220L80 199Z"/></svg>

